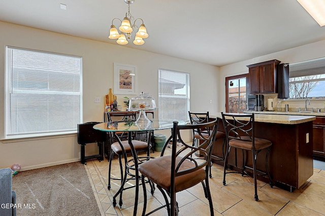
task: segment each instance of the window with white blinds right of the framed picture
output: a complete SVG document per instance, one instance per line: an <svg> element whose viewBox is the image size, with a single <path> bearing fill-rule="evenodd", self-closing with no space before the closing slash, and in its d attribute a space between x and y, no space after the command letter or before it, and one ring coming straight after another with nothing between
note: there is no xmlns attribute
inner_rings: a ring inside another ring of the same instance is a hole
<svg viewBox="0 0 325 216"><path fill-rule="evenodd" d="M188 120L189 74L158 70L159 119Z"/></svg>

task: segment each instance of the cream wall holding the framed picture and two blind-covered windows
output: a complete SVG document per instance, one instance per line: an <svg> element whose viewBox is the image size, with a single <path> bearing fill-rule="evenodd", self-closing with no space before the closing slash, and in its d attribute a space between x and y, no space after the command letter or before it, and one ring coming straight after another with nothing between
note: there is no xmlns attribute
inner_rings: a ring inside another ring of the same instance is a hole
<svg viewBox="0 0 325 216"><path fill-rule="evenodd" d="M0 38L0 139L4 138L5 133L4 61L6 46L83 57L83 122L102 121L104 101L94 103L94 97L104 98L104 95L108 94L108 89L113 89L114 62L137 65L138 91L149 93L156 100L158 98L158 68L188 72L190 73L191 110L218 112L218 67L130 49L127 45L110 45L5 22L0 22ZM117 95L118 104L123 104L123 97L124 95ZM212 99L211 104L210 99ZM79 149L76 134L1 140L0 168L19 163L22 169L26 170L78 161ZM94 148L88 149L94 151Z"/></svg>

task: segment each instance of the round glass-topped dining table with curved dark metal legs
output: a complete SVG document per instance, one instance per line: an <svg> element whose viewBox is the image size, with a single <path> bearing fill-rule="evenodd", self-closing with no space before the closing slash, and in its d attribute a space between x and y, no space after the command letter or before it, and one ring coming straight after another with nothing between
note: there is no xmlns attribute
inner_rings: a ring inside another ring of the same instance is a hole
<svg viewBox="0 0 325 216"><path fill-rule="evenodd" d="M99 124L95 124L93 126L94 129L103 131L103 132L111 132L113 133L114 138L117 140L117 142L120 143L120 146L123 148L123 145L121 144L121 140L119 137L115 134L115 132L146 132L146 131L156 131L160 129L171 129L173 128L173 121L177 121L179 125L186 124L186 121L183 120L156 120L153 119L150 123L147 124L136 124L135 120L131 121L110 121L110 122L103 122ZM133 215L137 215L137 208L138 208L138 197L139 197L139 171L138 171L138 155L136 153L136 150L132 144L132 134L133 133L127 133L128 136L128 144L131 147L133 159L134 159L134 168L135 168L135 180L136 180L136 195L135 195L135 205L134 205L134 212ZM150 136L151 133L149 133L148 136L148 145L150 144ZM168 139L170 140L170 139ZM125 150L123 149L123 152L125 153ZM126 155L126 154L125 154ZM113 196L113 206L116 206L116 197L118 194L120 194L123 190L123 185L126 181L126 175L124 175L123 183L121 184L119 190L116 192L116 194Z"/></svg>

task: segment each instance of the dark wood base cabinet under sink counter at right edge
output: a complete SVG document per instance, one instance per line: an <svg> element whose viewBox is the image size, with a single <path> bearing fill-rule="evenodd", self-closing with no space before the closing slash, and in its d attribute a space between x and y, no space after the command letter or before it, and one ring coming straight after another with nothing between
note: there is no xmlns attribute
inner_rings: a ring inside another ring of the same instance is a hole
<svg viewBox="0 0 325 216"><path fill-rule="evenodd" d="M325 161L325 117L316 116L313 121L313 155Z"/></svg>

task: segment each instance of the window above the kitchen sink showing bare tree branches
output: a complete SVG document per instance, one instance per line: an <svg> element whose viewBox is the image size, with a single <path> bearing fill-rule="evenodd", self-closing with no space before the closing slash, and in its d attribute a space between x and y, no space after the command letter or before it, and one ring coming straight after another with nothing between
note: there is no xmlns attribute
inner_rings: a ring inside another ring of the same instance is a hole
<svg viewBox="0 0 325 216"><path fill-rule="evenodd" d="M325 58L289 64L290 99L325 97Z"/></svg>

